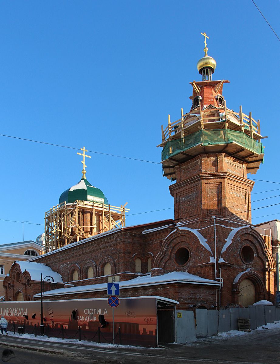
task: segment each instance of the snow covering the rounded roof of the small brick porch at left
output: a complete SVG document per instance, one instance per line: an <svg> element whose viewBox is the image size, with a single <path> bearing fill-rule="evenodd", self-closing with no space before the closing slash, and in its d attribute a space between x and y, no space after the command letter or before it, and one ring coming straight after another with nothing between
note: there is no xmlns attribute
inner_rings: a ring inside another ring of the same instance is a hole
<svg viewBox="0 0 280 364"><path fill-rule="evenodd" d="M41 274L44 277L51 276L54 278L54 282L63 283L62 277L57 272L54 272L50 267L42 263L32 263L25 261L16 261L16 264L20 266L22 273L26 270L32 279L32 281L40 281Z"/></svg>

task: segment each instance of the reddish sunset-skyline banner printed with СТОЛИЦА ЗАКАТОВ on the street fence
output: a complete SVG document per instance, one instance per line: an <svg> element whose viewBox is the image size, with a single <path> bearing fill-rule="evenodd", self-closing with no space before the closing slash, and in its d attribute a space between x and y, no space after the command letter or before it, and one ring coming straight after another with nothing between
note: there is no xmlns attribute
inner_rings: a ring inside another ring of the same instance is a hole
<svg viewBox="0 0 280 364"><path fill-rule="evenodd" d="M40 301L0 302L0 315L8 320L9 330L39 335ZM99 315L104 315L104 327ZM46 335L51 337L113 341L112 308L106 298L43 301L43 322ZM155 347L156 325L155 297L120 298L120 305L114 308L116 344Z"/></svg>

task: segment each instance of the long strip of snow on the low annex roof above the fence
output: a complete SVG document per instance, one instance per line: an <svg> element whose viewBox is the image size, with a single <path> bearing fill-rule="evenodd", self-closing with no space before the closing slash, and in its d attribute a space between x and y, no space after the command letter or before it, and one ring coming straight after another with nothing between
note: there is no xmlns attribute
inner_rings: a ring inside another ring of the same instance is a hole
<svg viewBox="0 0 280 364"><path fill-rule="evenodd" d="M171 272L163 274L162 276L151 277L151 274L147 276L141 276L133 278L129 281L118 282L120 289L130 287L143 287L159 284L170 284L170 283L188 283L188 284L206 284L206 285L220 285L219 282L210 279L194 276L187 272ZM86 286L75 286L69 288L59 288L44 293L44 296L58 296L63 294L75 294L83 292L94 292L94 291L105 291L107 290L106 283L90 284ZM40 293L35 294L34 297L40 296Z"/></svg>

